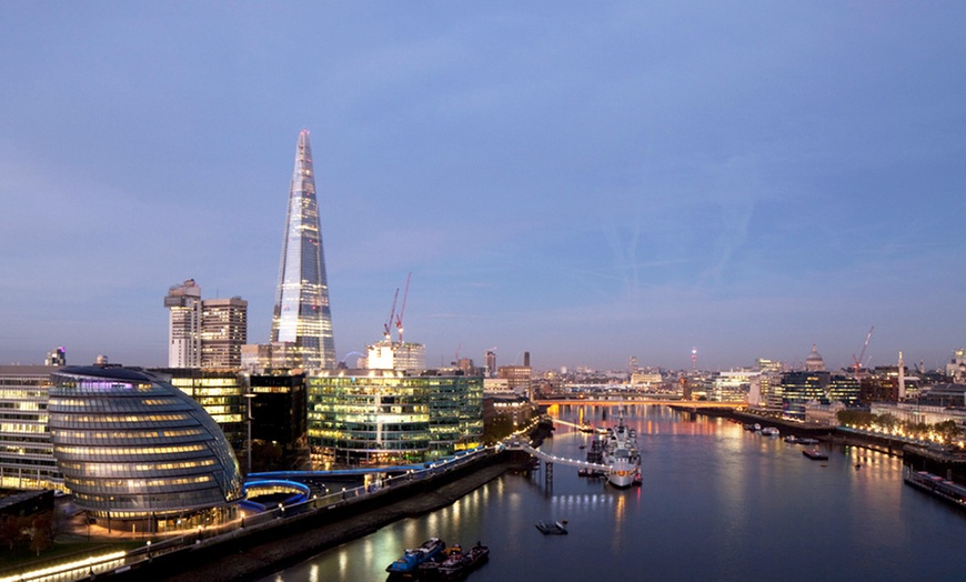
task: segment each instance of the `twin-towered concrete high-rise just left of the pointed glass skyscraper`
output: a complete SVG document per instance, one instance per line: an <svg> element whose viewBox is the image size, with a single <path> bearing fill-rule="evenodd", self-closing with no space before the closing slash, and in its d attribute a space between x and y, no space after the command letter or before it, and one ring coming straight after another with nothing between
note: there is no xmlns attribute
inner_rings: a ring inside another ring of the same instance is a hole
<svg viewBox="0 0 966 582"><path fill-rule="evenodd" d="M169 368L241 368L248 341L248 301L201 299L193 279L173 285L164 298L169 310Z"/></svg>

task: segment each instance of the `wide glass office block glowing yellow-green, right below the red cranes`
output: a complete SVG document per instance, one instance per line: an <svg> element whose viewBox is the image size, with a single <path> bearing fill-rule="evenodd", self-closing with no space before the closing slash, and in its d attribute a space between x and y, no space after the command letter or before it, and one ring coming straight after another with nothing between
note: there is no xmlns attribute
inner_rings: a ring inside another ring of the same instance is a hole
<svg viewBox="0 0 966 582"><path fill-rule="evenodd" d="M419 463L482 442L481 377L342 370L306 383L316 468Z"/></svg>

